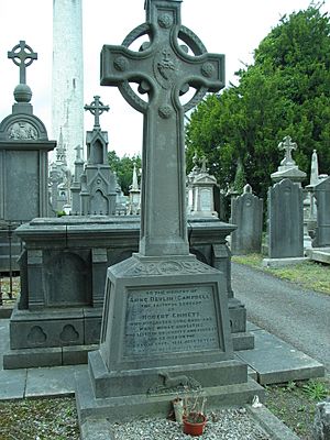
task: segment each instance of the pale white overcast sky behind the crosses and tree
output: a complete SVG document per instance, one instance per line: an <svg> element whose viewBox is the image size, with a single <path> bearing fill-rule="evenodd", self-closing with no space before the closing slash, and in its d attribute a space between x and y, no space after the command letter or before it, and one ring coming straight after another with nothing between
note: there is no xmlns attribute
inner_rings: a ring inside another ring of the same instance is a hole
<svg viewBox="0 0 330 440"><path fill-rule="evenodd" d="M241 62L251 64L253 51L285 13L306 9L310 0L184 0L183 24L194 31L208 52L226 55L227 84L233 81ZM28 69L34 114L51 131L52 0L0 0L0 121L11 113L19 68L7 53L20 40L37 52ZM141 151L142 116L110 87L99 86L99 54L103 44L121 44L127 34L145 21L144 0L82 0L85 103L100 95L110 111L101 117L109 132L109 150L119 155ZM330 10L330 0L322 10ZM85 130L92 129L85 117Z"/></svg>

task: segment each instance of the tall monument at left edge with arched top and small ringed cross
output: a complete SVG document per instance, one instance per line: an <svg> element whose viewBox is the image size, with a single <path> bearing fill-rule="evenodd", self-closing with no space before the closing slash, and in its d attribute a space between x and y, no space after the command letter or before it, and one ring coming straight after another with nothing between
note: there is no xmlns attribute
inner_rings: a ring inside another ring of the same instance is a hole
<svg viewBox="0 0 330 440"><path fill-rule="evenodd" d="M26 67L37 54L21 41L8 57L20 68L20 84L14 89L12 113L0 122L0 270L16 270L15 256L21 243L12 231L22 222L50 215L48 152L56 145L48 141L43 122L33 114ZM9 249L10 246L10 249ZM11 254L11 255L10 255Z"/></svg>

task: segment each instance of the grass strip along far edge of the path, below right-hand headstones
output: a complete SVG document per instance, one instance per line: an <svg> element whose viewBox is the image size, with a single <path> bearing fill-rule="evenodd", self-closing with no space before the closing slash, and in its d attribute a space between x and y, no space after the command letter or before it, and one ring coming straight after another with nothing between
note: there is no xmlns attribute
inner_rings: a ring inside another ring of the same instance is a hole
<svg viewBox="0 0 330 440"><path fill-rule="evenodd" d="M272 274L277 278L286 279L298 284L309 290L320 292L330 295L330 266L317 262L306 261L285 267L263 267L263 256L261 254L234 255L234 263L245 264L265 273Z"/></svg>

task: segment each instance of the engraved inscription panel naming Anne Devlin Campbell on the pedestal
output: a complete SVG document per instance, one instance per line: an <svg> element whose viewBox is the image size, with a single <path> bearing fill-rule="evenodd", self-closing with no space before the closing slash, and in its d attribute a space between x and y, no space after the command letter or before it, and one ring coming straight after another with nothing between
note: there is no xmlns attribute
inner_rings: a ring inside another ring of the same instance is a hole
<svg viewBox="0 0 330 440"><path fill-rule="evenodd" d="M211 286L129 293L125 356L217 350L219 345Z"/></svg>

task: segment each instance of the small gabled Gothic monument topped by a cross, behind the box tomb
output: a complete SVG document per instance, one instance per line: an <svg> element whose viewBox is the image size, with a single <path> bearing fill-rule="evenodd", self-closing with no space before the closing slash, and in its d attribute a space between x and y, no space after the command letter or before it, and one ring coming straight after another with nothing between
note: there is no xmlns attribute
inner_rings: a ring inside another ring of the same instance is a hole
<svg viewBox="0 0 330 440"><path fill-rule="evenodd" d="M95 117L92 131L87 132L87 164L80 176L80 213L114 215L116 213L116 177L108 163L108 133L101 131L100 116L108 111L99 96L94 97L85 110Z"/></svg>

